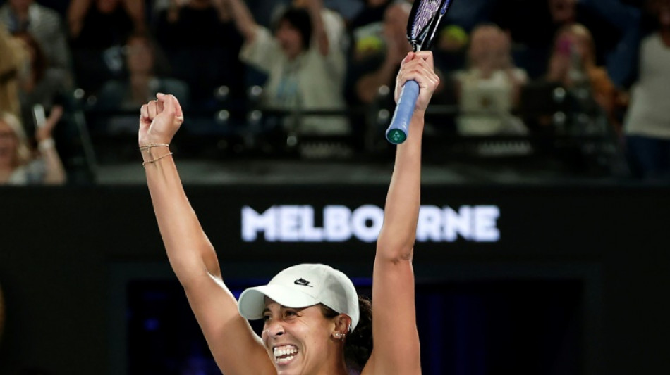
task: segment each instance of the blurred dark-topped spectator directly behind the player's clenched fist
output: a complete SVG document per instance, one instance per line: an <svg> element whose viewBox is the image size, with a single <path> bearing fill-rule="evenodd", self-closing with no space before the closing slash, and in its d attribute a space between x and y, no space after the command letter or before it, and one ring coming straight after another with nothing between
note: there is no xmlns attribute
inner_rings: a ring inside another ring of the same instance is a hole
<svg viewBox="0 0 670 375"><path fill-rule="evenodd" d="M184 82L157 75L157 46L146 34L128 38L126 51L127 80L106 82L99 94L97 108L102 110L135 110L142 103L155 98L159 92L180 95L182 106L188 108L188 87ZM109 132L136 132L137 116L115 116L110 120Z"/></svg>

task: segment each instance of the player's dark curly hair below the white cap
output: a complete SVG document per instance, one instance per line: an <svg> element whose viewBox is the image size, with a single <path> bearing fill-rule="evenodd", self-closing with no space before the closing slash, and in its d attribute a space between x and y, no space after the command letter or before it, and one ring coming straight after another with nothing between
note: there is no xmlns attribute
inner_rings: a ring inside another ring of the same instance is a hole
<svg viewBox="0 0 670 375"><path fill-rule="evenodd" d="M348 369L360 372L372 353L372 303L370 298L358 295L358 310L360 310L358 324L344 341L344 358ZM338 312L324 305L321 305L321 311L327 318L339 315Z"/></svg>

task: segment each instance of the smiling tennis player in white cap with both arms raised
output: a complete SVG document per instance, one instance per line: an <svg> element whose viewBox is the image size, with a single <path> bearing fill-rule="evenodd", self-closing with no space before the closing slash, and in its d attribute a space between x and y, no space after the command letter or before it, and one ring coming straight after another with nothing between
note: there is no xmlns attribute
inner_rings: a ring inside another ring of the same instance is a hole
<svg viewBox="0 0 670 375"><path fill-rule="evenodd" d="M224 374L421 373L412 257L424 113L439 83L430 52L410 52L403 59L396 101L407 80L418 82L420 94L410 136L397 146L386 197L374 260L372 322L369 306L363 303L361 311L351 280L326 265L289 267L269 284L250 288L235 300L224 284L217 253L185 196L169 150L184 121L178 100L159 94L142 106L139 144L158 226L174 272ZM264 319L260 337L247 319ZM354 337L366 326L372 332L372 340L370 333L363 335L368 336L369 355L348 360L348 348L354 341L361 342Z"/></svg>

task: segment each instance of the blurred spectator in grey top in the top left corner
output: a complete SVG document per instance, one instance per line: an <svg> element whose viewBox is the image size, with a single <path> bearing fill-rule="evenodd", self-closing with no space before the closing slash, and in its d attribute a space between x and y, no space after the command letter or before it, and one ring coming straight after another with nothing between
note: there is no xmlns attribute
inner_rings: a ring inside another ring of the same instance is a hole
<svg viewBox="0 0 670 375"><path fill-rule="evenodd" d="M61 15L34 0L9 0L0 8L0 22L12 34L30 33L44 51L49 66L69 77L70 48Z"/></svg>

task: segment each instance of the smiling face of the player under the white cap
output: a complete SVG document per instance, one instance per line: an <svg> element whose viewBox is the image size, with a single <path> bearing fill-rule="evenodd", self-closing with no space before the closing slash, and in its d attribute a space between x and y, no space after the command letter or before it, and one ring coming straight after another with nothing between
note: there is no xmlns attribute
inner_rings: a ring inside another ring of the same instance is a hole
<svg viewBox="0 0 670 375"><path fill-rule="evenodd" d="M335 330L320 305L291 308L265 298L262 340L279 375L315 374L329 362Z"/></svg>

